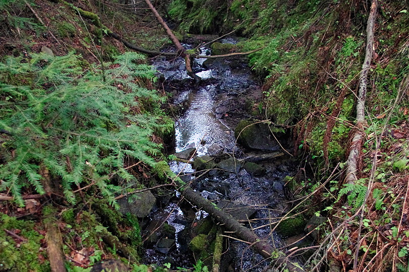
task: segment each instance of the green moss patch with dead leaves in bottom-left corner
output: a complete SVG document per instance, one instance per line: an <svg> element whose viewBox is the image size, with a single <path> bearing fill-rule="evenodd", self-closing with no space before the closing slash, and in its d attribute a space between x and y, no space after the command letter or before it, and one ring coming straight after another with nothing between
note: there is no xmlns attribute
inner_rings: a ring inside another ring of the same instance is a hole
<svg viewBox="0 0 409 272"><path fill-rule="evenodd" d="M50 271L49 262L40 263L39 255L46 259L46 251L41 247L44 236L38 233L39 226L32 221L17 220L0 213L0 270L2 271ZM21 241L4 230L20 231Z"/></svg>

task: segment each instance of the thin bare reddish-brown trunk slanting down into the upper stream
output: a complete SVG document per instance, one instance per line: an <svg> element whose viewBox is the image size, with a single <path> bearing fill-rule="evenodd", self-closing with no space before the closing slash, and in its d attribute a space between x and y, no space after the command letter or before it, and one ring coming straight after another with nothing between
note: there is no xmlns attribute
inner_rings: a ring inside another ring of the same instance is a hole
<svg viewBox="0 0 409 272"><path fill-rule="evenodd" d="M201 78L197 76L195 73L192 71L192 61L191 61L191 56L186 52L186 49L182 46L178 38L176 38L175 34L173 34L172 30L168 27L168 25L165 23L165 21L162 19L161 15L158 13L158 11L155 9L155 7L150 3L149 0L145 0L146 5L148 5L149 9L152 11L152 13L155 15L155 17L158 19L158 22L162 25L162 27L165 29L166 34L168 34L169 38L172 40L173 44L176 47L176 50L180 53L180 55L185 59L185 64L186 64L186 72L187 74L194 79L196 83L200 82Z"/></svg>

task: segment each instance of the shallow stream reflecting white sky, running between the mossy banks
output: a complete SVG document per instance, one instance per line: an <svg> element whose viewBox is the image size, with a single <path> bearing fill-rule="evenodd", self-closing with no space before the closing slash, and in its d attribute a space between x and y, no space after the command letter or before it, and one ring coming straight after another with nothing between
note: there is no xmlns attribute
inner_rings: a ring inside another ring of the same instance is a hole
<svg viewBox="0 0 409 272"><path fill-rule="evenodd" d="M236 43L234 38L221 42ZM184 46L191 48L188 44ZM200 50L201 54L211 53L210 48L202 47ZM164 91L172 94L170 103L179 108L175 121L176 153L194 148L193 159L212 156L217 160L229 157L240 159L249 155L250 151L236 144L234 128L240 120L251 117L248 114L249 108L261 99L262 91L257 79L251 74L245 57L199 59L193 67L202 78L198 85L193 85L187 76L182 58L157 59L153 65L164 80ZM251 151L251 154L258 153ZM203 197L215 204L231 202L237 205L233 208L244 209L238 213L250 216L250 224L247 223L246 226L252 228L259 237L268 238L271 244L281 247L284 241L271 231L269 222L275 221L274 218L287 209L283 179L293 174L294 167L286 157L263 161L259 165L265 169L262 175L251 175L244 169L237 173L211 170L201 175L203 171L195 172L191 164L176 161L170 163L172 171L179 174L185 182L192 182L192 188ZM167 228L174 231L162 234L163 238L158 241L154 239L148 243L144 262L159 265L170 263L172 268L191 268L203 255L195 252L193 257L188 243L197 235L194 227L205 220L208 214L196 211L186 200L181 201L177 192L163 202L165 204L162 208L149 215L151 221L145 227L145 236L157 231L160 222L164 220ZM176 234L173 235L172 232ZM225 239L224 251L226 253L223 254L220 271L262 271L269 265L245 243L234 239ZM205 264L211 264L212 258L204 261Z"/></svg>

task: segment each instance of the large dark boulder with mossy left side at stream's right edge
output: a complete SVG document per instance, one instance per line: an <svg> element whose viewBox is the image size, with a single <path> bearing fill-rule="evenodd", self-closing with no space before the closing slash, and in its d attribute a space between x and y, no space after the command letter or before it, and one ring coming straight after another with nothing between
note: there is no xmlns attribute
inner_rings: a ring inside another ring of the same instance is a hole
<svg viewBox="0 0 409 272"><path fill-rule="evenodd" d="M280 148L272 137L270 127L265 123L242 120L234 130L234 135L248 149L275 151Z"/></svg>

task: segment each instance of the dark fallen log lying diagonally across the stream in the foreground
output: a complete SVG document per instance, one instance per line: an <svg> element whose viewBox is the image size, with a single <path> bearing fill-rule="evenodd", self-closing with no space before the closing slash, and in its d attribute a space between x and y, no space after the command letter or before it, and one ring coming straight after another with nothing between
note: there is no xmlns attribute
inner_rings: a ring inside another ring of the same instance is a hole
<svg viewBox="0 0 409 272"><path fill-rule="evenodd" d="M249 229L237 222L231 215L220 210L214 206L207 199L203 198L200 194L193 191L190 187L185 187L181 191L183 197L185 197L189 202L195 205L197 208L205 210L209 215L211 215L216 221L223 224L223 226L229 231L233 232L235 236L239 239L249 242L251 247L261 254L265 258L272 258L273 252L279 257L272 259L275 266L284 266L290 271L302 272L304 271L300 266L291 263L282 252L277 252L277 250L272 247L269 243L255 235Z"/></svg>

